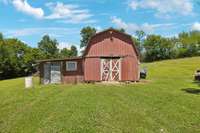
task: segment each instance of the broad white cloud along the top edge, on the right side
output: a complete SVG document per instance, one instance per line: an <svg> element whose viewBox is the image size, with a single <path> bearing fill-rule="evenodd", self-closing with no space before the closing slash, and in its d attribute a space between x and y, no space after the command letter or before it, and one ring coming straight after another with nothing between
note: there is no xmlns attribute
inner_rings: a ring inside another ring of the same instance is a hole
<svg viewBox="0 0 200 133"><path fill-rule="evenodd" d="M156 16L166 16L177 13L180 15L193 14L192 0L132 0L129 6L133 10L153 9Z"/></svg>

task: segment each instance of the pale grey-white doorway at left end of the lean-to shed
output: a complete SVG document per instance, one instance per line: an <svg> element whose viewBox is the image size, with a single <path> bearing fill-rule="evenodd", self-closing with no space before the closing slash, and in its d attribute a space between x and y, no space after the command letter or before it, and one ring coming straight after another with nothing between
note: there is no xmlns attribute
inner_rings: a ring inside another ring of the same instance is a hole
<svg viewBox="0 0 200 133"><path fill-rule="evenodd" d="M61 83L61 63L51 62L44 64L44 84Z"/></svg>

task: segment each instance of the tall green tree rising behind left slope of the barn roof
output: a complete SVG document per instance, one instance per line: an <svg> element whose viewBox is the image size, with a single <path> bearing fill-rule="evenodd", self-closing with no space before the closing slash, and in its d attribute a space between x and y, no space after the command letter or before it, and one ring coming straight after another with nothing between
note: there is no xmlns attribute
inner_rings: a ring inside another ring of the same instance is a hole
<svg viewBox="0 0 200 133"><path fill-rule="evenodd" d="M87 26L81 30L81 45L80 48L86 47L90 38L95 35L97 30L93 27Z"/></svg>

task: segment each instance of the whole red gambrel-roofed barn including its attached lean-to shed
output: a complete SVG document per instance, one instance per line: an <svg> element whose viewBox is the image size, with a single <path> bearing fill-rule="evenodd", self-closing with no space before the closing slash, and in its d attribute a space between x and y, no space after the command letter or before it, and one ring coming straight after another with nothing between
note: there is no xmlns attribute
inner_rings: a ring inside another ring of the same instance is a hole
<svg viewBox="0 0 200 133"><path fill-rule="evenodd" d="M40 61L41 83L139 81L139 53L130 35L108 29L94 35L82 57Z"/></svg>

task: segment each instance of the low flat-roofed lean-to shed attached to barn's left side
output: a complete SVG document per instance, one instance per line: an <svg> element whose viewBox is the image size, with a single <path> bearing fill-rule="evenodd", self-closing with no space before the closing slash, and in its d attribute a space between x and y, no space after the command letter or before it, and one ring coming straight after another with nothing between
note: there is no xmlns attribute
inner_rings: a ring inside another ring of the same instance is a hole
<svg viewBox="0 0 200 133"><path fill-rule="evenodd" d="M83 58L41 60L39 65L40 83L83 82Z"/></svg>

